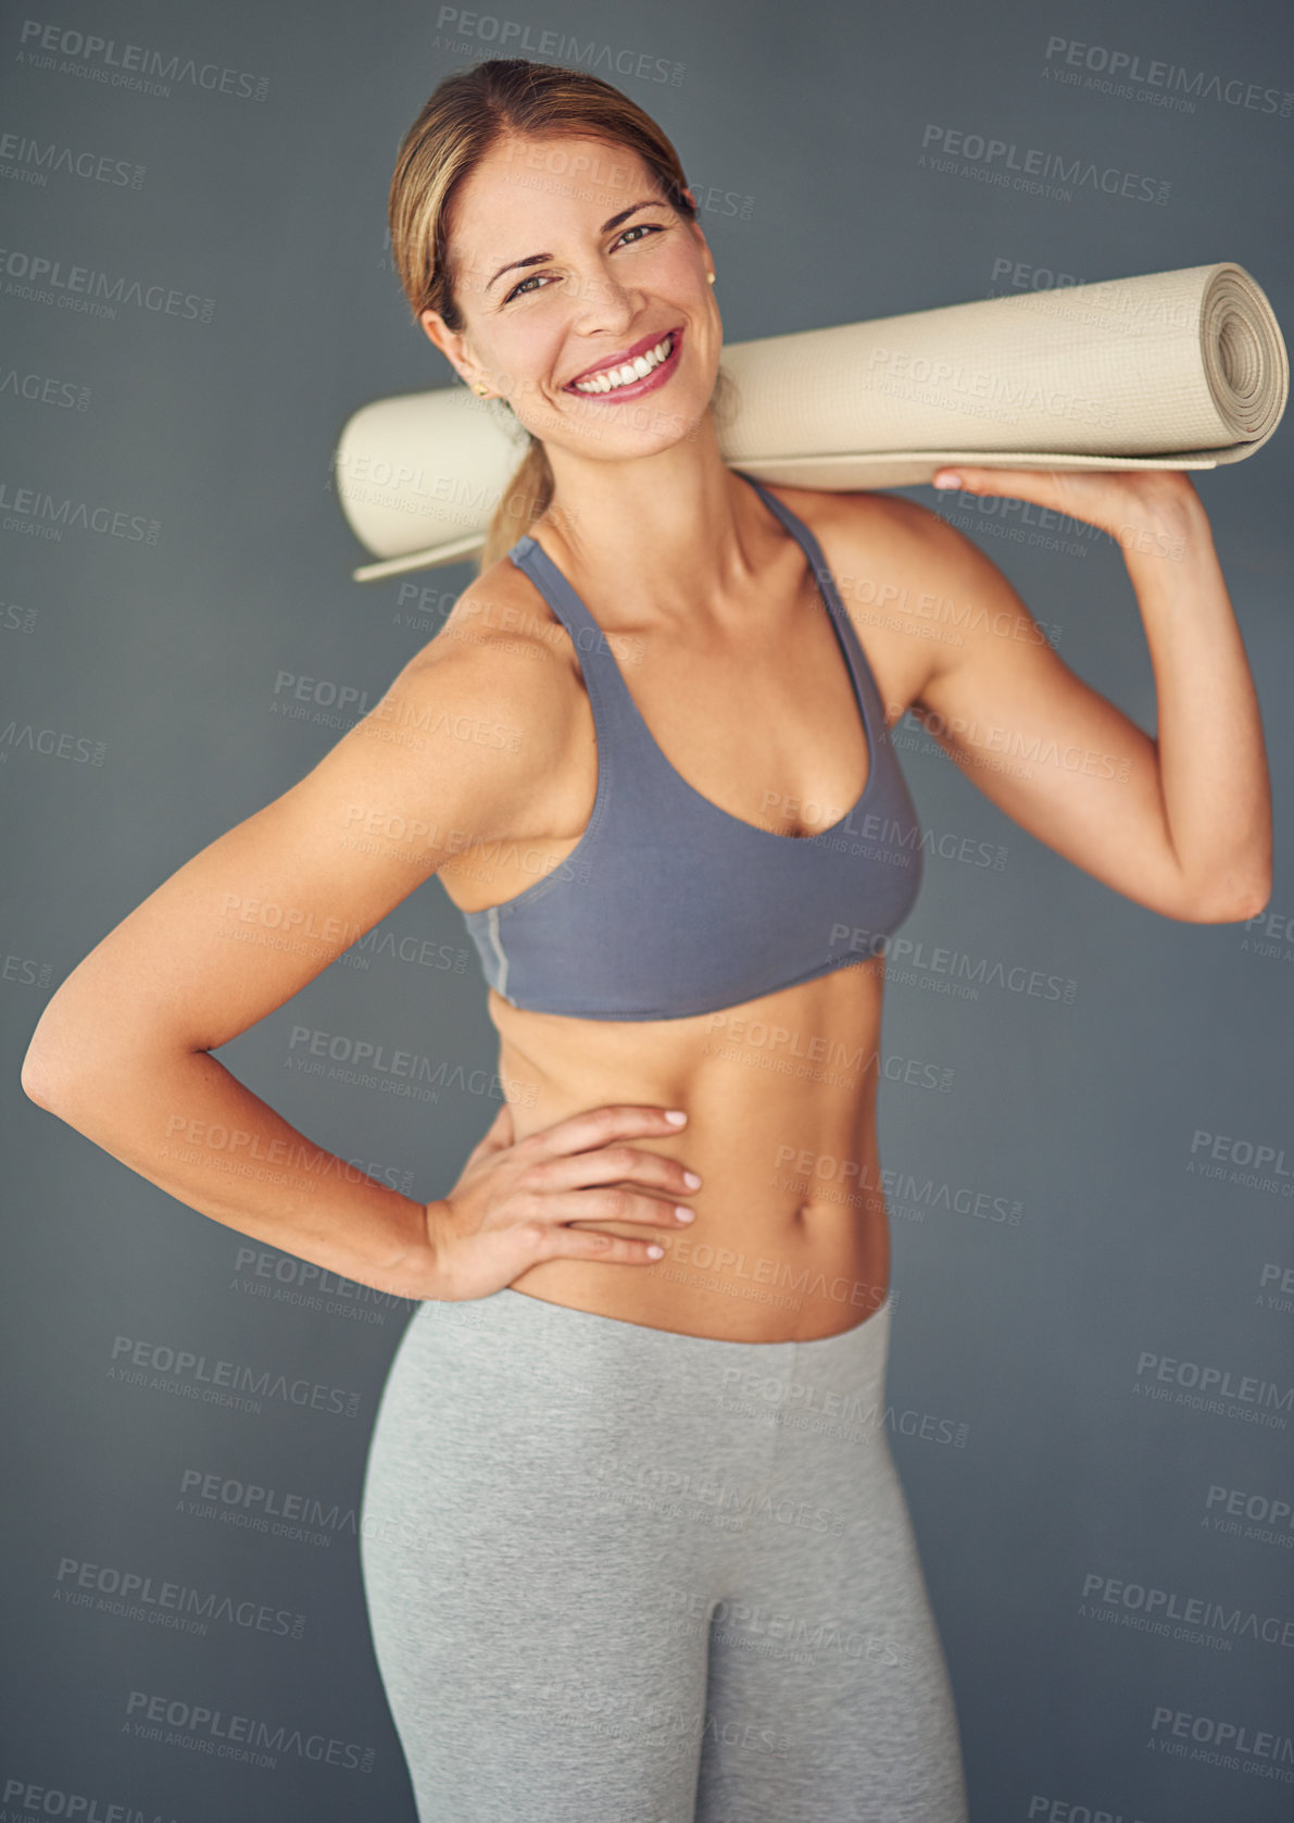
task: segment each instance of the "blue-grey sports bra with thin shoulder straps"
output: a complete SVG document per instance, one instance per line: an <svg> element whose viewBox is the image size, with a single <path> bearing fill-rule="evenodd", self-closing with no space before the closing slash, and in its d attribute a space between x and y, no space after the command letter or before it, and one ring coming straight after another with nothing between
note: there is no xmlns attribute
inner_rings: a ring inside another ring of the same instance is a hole
<svg viewBox="0 0 1294 1823"><path fill-rule="evenodd" d="M512 1006L580 1019L685 1019L736 1006L873 955L917 901L917 811L822 547L789 507L742 479L800 541L827 603L868 736L862 797L806 837L711 804L656 746L611 642L527 532L508 556L574 642L598 793L565 860L514 899L463 913L485 979Z"/></svg>

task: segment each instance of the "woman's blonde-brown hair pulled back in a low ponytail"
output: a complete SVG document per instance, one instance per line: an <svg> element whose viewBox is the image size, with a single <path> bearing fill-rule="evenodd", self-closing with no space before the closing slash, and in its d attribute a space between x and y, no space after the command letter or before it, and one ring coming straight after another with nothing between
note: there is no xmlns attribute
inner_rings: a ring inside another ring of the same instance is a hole
<svg viewBox="0 0 1294 1823"><path fill-rule="evenodd" d="M465 179L501 139L554 133L601 139L638 153L671 208L696 221L671 140L611 82L583 69L532 64L523 57L496 57L457 69L436 86L405 133L390 180L386 215L392 257L414 323L430 308L448 328L463 328L463 312L454 299L450 211ZM501 408L516 423L507 401ZM547 450L539 438L525 436L529 448L494 509L479 569L505 556L552 501Z"/></svg>

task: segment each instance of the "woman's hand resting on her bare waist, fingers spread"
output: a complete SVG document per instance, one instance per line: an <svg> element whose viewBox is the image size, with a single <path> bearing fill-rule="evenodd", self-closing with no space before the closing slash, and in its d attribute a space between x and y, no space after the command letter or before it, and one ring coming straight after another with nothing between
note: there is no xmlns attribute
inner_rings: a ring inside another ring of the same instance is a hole
<svg viewBox="0 0 1294 1823"><path fill-rule="evenodd" d="M676 1198L693 1194L700 1178L674 1158L631 1145L676 1134L682 1125L669 1121L665 1108L614 1103L516 1139L505 1101L450 1194L426 1205L436 1289L425 1296L485 1298L541 1260L654 1265L663 1249L651 1240L569 1223L687 1227L693 1212L676 1214Z"/></svg>

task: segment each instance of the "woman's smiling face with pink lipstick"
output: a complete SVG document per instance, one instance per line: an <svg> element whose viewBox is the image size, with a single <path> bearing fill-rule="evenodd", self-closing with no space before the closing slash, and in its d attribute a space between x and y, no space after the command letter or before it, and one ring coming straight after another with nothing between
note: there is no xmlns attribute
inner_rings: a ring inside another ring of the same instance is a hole
<svg viewBox="0 0 1294 1823"><path fill-rule="evenodd" d="M434 310L423 328L545 445L623 459L694 432L724 341L713 259L638 153L508 137L457 191L450 241L463 328Z"/></svg>

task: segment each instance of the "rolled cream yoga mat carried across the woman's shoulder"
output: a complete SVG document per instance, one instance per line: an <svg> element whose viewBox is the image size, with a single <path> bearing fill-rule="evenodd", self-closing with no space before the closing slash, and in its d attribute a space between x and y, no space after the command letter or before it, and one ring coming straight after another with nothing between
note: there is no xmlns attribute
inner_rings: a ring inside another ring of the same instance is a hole
<svg viewBox="0 0 1294 1823"><path fill-rule="evenodd" d="M762 335L720 359L724 461L826 492L915 487L959 461L1214 469L1261 448L1289 397L1276 314L1230 261ZM479 551L525 450L507 407L465 386L357 410L334 485L381 561L355 580Z"/></svg>

